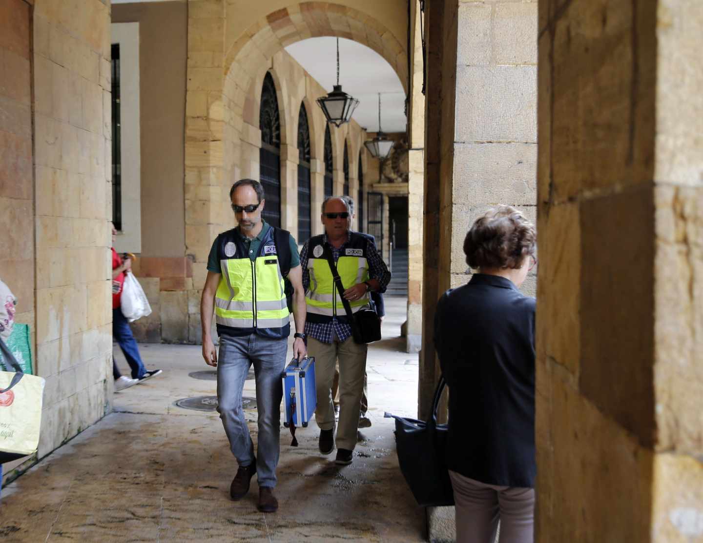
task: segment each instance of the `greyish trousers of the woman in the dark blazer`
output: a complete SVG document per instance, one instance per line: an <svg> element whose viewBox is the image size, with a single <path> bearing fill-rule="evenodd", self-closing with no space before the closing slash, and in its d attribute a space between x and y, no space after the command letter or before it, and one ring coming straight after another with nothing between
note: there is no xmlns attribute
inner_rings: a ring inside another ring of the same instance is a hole
<svg viewBox="0 0 703 543"><path fill-rule="evenodd" d="M534 542L534 488L496 486L449 471L456 503L456 543Z"/></svg>

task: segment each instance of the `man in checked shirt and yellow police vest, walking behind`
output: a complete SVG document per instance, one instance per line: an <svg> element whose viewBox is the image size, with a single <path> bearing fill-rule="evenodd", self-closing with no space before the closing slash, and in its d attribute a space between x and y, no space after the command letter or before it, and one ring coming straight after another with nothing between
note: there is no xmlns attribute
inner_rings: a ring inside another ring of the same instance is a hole
<svg viewBox="0 0 703 543"><path fill-rule="evenodd" d="M341 197L328 197L322 204L325 233L311 237L300 251L303 287L307 303L305 334L315 357L319 448L330 454L335 448L335 410L332 384L335 364L340 365L340 418L335 463L352 463L356 429L366 372L367 346L354 343L352 327L342 305L349 301L352 313L368 306L370 292L385 292L391 274L375 244L368 237L349 231L349 204ZM337 292L328 254L332 255L344 292Z"/></svg>

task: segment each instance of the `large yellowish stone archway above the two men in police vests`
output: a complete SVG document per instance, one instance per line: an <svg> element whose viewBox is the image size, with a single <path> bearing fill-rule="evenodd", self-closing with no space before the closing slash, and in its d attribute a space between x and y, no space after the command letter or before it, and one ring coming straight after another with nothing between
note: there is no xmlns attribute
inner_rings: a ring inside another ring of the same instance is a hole
<svg viewBox="0 0 703 543"><path fill-rule="evenodd" d="M324 36L358 41L387 60L407 91L407 4L404 0L348 2L353 7L339 1L304 1L286 6L285 0L267 0L260 5L247 3L244 8L225 0L188 0L186 254L193 261L194 284L205 281L209 244L228 224L231 180L255 177L257 164L246 159L242 149L245 145L260 146L261 134L252 123L258 82L267 71L276 73L277 55L285 46ZM301 91L285 91L281 85L277 90L283 95L290 93L296 100ZM299 103L287 103L287 98L283 96L282 106L297 111ZM309 112L313 110L311 107ZM247 111L253 113L248 121ZM314 115L310 123L319 136ZM297 172L293 167L297 165L294 125L285 126L282 135L281 159L288 164L282 172L285 190L290 189L288 178ZM335 140L346 137L344 131ZM318 149L318 140L316 137L314 150ZM321 160L314 157L311 166L314 184L318 185L323 176ZM341 164L339 169L341 173ZM321 202L321 195L316 194L314 200L314 205ZM292 221L295 210L282 209L282 215Z"/></svg>

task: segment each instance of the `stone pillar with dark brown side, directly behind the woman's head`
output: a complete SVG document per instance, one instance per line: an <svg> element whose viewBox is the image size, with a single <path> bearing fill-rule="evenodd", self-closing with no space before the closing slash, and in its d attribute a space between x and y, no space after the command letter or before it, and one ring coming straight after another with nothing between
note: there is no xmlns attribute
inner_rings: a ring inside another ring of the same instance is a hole
<svg viewBox="0 0 703 543"><path fill-rule="evenodd" d="M418 411L439 374L437 300L469 279L463 240L495 204L535 218L536 2L427 2L423 347ZM527 292L534 292L527 284ZM451 509L430 509L430 538L452 540Z"/></svg>

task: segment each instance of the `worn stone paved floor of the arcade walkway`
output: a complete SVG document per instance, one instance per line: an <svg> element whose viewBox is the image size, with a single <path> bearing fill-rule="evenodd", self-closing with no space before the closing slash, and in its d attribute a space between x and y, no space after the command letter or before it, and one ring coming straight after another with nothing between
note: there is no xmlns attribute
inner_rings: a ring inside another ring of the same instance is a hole
<svg viewBox="0 0 703 543"><path fill-rule="evenodd" d="M199 346L141 345L147 367L164 374L115 394L115 412L43 459L2 490L3 542L420 542L424 511L398 469L392 419L414 416L418 356L401 352L405 299L389 299L383 341L369 349L373 426L363 430L351 466L317 451L314 422L281 428L278 513L256 509L258 488L228 497L236 461L214 412L175 400L214 395ZM118 350L119 351L119 350ZM117 355L118 363L126 366ZM245 395L254 396L254 381ZM247 411L255 439L256 411Z"/></svg>

